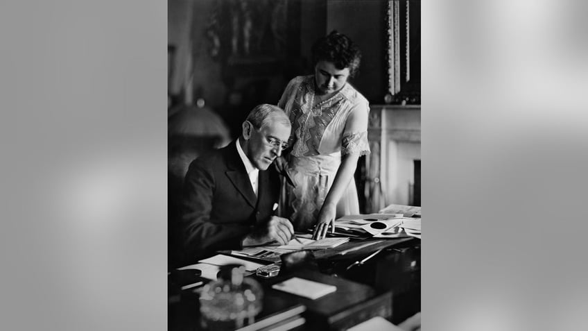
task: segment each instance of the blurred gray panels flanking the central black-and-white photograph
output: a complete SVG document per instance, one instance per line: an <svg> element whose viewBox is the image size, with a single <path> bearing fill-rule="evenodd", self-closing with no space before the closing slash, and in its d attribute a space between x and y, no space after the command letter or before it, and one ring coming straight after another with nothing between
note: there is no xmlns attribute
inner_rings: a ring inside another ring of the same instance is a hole
<svg viewBox="0 0 588 331"><path fill-rule="evenodd" d="M0 9L0 328L166 328L167 8ZM424 330L585 328L587 10L423 1Z"/></svg>

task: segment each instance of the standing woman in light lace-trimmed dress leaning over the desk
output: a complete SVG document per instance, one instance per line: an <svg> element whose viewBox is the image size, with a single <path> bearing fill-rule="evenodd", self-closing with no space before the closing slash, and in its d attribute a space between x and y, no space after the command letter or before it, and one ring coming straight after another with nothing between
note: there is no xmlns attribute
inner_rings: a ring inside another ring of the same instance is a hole
<svg viewBox="0 0 588 331"><path fill-rule="evenodd" d="M295 230L315 226L313 239L334 230L336 218L359 213L354 173L358 158L370 153L370 106L347 79L360 60L352 40L333 31L312 46L314 75L293 78L279 99L292 131L276 167L294 184L283 185L280 213Z"/></svg>

